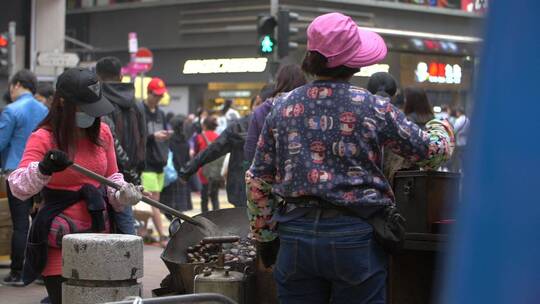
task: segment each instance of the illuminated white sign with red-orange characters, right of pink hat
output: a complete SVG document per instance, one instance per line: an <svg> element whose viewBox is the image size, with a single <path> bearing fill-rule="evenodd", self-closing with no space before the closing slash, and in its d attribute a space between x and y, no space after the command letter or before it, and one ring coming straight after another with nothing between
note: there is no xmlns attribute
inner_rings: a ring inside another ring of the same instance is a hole
<svg viewBox="0 0 540 304"><path fill-rule="evenodd" d="M416 66L416 81L430 83L446 83L460 84L461 83L461 66L459 64L444 64L441 62L432 61L429 64L419 62Z"/></svg>

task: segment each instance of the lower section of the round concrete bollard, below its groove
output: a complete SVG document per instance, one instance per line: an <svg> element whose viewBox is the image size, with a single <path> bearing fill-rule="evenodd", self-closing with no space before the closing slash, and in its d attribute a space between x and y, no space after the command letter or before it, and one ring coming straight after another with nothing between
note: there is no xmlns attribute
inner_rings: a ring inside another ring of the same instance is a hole
<svg viewBox="0 0 540 304"><path fill-rule="evenodd" d="M62 284L62 302L95 304L122 301L126 297L142 295L142 284L125 287L83 287Z"/></svg>

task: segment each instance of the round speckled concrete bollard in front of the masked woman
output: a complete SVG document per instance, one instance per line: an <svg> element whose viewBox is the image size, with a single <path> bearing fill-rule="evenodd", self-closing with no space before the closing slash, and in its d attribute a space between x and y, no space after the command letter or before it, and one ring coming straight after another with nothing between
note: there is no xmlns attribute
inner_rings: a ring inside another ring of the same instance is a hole
<svg viewBox="0 0 540 304"><path fill-rule="evenodd" d="M63 304L94 304L141 296L143 240L125 234L81 233L62 239Z"/></svg>

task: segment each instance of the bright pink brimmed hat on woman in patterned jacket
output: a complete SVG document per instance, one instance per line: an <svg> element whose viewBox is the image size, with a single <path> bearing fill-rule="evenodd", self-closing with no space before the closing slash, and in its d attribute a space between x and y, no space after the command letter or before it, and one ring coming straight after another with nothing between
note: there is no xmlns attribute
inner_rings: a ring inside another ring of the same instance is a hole
<svg viewBox="0 0 540 304"><path fill-rule="evenodd" d="M328 59L327 67L361 68L386 57L386 44L377 33L363 30L349 16L321 15L307 29L307 49Z"/></svg>

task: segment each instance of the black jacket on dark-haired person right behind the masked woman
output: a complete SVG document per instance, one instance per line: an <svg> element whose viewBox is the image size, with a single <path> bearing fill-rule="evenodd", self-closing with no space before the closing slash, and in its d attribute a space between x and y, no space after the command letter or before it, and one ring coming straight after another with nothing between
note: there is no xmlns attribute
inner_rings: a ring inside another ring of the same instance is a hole
<svg viewBox="0 0 540 304"><path fill-rule="evenodd" d="M140 184L146 154L146 123L137 107L132 83L103 83L103 95L113 104L114 111L103 117L114 137L116 161L126 181Z"/></svg>

